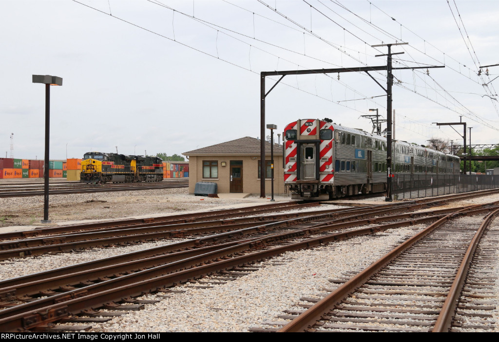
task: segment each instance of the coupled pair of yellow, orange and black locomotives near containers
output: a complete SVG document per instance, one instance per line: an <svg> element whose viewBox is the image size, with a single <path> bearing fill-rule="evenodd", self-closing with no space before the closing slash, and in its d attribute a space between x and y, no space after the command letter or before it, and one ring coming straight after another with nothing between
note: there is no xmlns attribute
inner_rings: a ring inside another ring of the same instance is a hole
<svg viewBox="0 0 499 342"><path fill-rule="evenodd" d="M87 152L81 161L82 183L159 182L163 180L163 161L117 153Z"/></svg>

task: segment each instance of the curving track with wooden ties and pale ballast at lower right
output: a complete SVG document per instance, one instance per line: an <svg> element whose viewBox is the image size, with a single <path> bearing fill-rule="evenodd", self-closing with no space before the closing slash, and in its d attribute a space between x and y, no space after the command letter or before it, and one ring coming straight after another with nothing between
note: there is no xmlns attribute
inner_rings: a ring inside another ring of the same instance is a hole
<svg viewBox="0 0 499 342"><path fill-rule="evenodd" d="M484 212L489 213L485 219ZM490 258L481 260L481 265L476 260L484 255L475 255L475 251L498 214L497 206L480 205L445 216L345 279L278 331L448 332L453 326L494 329L494 324L483 319L492 317L490 312L495 309L483 300L492 296L492 278L483 273L483 264ZM497 232L493 235L497 241ZM470 267L472 273L467 280ZM470 287L486 288L477 298L476 293L470 294ZM461 293L469 297L460 300Z"/></svg>

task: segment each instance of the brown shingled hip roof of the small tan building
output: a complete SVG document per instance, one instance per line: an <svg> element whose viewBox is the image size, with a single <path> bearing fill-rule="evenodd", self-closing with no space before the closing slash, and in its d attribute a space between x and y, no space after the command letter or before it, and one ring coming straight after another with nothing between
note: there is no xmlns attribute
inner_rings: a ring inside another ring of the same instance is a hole
<svg viewBox="0 0 499 342"><path fill-rule="evenodd" d="M279 153L282 145L274 143L274 154ZM245 136L236 140L222 142L220 144L198 148L196 150L182 153L183 155L194 154L260 154L260 140ZM270 143L265 141L265 154L270 154Z"/></svg>

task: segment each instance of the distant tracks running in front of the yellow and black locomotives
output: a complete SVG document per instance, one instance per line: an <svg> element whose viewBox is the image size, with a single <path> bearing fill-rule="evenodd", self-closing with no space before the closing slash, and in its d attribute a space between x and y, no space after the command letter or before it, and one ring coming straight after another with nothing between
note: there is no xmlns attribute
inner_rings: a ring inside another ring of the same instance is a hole
<svg viewBox="0 0 499 342"><path fill-rule="evenodd" d="M110 184L83 184L83 183L55 183L49 185L49 195L84 194L111 191L138 191L151 189L186 188L189 179L164 180L162 182L141 183L110 183ZM0 186L0 198L43 196L43 185L3 185Z"/></svg>

